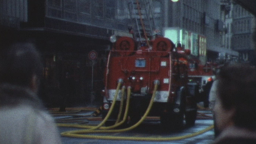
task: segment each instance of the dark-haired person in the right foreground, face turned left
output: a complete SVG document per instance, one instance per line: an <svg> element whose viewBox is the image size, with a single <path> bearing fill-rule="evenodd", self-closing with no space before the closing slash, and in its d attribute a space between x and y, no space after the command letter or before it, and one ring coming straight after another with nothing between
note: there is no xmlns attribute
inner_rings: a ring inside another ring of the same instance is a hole
<svg viewBox="0 0 256 144"><path fill-rule="evenodd" d="M223 66L213 112L220 134L213 144L256 144L256 68Z"/></svg>

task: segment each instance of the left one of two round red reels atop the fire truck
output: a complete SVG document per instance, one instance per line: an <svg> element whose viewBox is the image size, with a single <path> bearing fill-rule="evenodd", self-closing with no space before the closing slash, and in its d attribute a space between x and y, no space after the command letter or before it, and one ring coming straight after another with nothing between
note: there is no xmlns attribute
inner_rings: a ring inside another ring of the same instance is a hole
<svg viewBox="0 0 256 144"><path fill-rule="evenodd" d="M120 50L119 54L129 56L135 48L135 42L132 38L121 37L116 41L116 50Z"/></svg>

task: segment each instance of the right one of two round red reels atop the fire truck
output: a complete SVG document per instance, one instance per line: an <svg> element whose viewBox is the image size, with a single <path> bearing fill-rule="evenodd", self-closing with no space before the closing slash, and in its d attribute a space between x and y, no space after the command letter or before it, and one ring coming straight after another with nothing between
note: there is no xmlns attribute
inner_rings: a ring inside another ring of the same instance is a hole
<svg viewBox="0 0 256 144"><path fill-rule="evenodd" d="M173 45L168 38L156 38L152 45L153 51L156 51L157 56L166 56L172 51Z"/></svg>

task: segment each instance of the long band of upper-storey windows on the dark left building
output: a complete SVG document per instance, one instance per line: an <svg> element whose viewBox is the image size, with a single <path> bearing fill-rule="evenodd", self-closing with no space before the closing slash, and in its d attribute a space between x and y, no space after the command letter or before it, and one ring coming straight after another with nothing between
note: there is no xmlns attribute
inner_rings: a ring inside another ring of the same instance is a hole
<svg viewBox="0 0 256 144"><path fill-rule="evenodd" d="M127 30L132 22L127 0L46 0L46 17L89 24L108 29ZM150 0L155 29L161 30L162 3Z"/></svg>

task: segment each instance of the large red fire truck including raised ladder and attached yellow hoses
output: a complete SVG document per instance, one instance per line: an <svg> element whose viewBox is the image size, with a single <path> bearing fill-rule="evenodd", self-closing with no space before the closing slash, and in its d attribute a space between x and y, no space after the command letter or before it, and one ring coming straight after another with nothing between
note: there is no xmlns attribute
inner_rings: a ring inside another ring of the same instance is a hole
<svg viewBox="0 0 256 144"><path fill-rule="evenodd" d="M195 86L188 84L190 50L178 51L170 39L159 36L150 0L132 0L129 10L132 36L110 37L113 48L102 91L105 125L117 124L120 115L124 125L131 126L145 116L160 117L166 130L194 125L197 106Z"/></svg>

